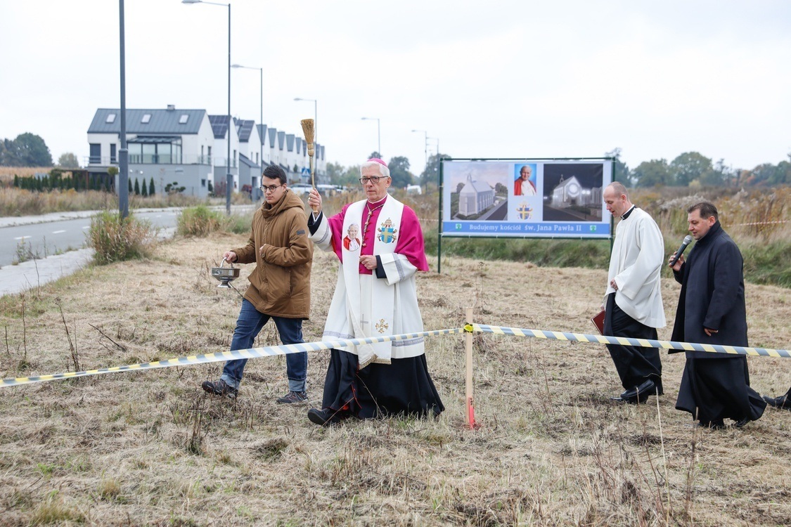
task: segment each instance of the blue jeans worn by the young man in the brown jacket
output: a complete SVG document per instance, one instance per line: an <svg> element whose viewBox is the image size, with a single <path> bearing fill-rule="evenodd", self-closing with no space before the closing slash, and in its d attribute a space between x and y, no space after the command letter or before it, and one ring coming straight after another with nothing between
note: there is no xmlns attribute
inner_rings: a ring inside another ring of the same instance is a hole
<svg viewBox="0 0 791 527"><path fill-rule="evenodd" d="M263 326L274 320L274 325L278 327L280 341L283 344L299 344L302 340L302 319L301 318L282 318L271 317L256 310L248 301L242 299L242 309L237 319L237 328L233 330L233 341L231 341L231 351L236 349L252 348L255 337ZM233 386L239 390L239 383L244 373L244 365L248 359L229 360L222 368L222 376L228 386ZM305 378L308 376L308 352L289 353L286 355L286 375L289 378L289 390L294 392L305 391Z"/></svg>

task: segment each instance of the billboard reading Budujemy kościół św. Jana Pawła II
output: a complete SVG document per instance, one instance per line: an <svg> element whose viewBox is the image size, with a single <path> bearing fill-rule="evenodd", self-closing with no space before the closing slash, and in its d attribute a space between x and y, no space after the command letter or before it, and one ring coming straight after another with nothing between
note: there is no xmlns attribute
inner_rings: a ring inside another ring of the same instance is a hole
<svg viewBox="0 0 791 527"><path fill-rule="evenodd" d="M443 160L441 180L443 236L611 236L611 160Z"/></svg>

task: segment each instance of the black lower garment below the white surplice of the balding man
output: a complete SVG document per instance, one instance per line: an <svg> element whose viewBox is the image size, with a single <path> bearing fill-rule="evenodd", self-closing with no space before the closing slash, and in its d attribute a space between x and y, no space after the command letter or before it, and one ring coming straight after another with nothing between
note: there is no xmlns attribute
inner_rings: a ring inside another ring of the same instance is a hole
<svg viewBox="0 0 791 527"><path fill-rule="evenodd" d="M615 303L615 293L607 295L607 309L604 314L604 334L611 337L631 337L657 340L657 329L645 326L624 313ZM662 361L658 348L641 346L622 346L607 344L615 370L626 390L653 378L657 383L657 393L662 391Z"/></svg>

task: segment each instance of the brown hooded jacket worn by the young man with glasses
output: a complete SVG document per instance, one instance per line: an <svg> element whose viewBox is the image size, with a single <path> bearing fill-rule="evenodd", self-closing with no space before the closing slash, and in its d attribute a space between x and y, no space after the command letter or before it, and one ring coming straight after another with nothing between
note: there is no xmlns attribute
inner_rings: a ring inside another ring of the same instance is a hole
<svg viewBox="0 0 791 527"><path fill-rule="evenodd" d="M313 243L305 204L296 194L286 188L277 203L264 201L252 218L248 244L232 250L238 263L255 262L244 298L256 310L272 317L310 316Z"/></svg>

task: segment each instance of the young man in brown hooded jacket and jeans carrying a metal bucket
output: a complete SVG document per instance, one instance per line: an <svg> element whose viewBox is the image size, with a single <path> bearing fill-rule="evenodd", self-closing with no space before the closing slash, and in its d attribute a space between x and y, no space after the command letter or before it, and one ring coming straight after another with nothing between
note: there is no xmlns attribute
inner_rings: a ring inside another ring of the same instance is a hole
<svg viewBox="0 0 791 527"><path fill-rule="evenodd" d="M305 205L289 190L282 168L267 167L261 183L265 201L253 216L248 244L222 255L228 262L255 262L233 331L231 351L252 348L255 337L270 318L283 344L304 342L302 321L310 314L313 247L308 240ZM246 363L247 359L229 360L220 379L203 382L203 390L237 397ZM307 373L307 352L286 355L289 392L278 397L279 403L299 403L308 399L305 393Z"/></svg>

